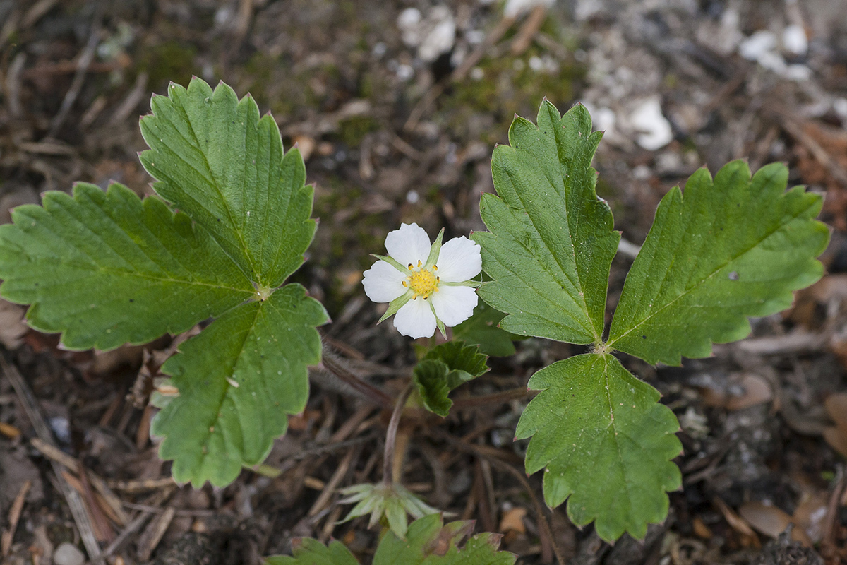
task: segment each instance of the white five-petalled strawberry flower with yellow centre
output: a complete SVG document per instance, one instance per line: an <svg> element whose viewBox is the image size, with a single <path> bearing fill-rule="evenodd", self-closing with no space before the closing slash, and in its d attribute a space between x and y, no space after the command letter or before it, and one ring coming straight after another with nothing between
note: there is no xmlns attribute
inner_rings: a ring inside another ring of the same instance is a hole
<svg viewBox="0 0 847 565"><path fill-rule="evenodd" d="M482 271L479 245L456 237L441 245L444 230L429 242L418 224L400 224L385 238L387 257L365 271L365 294L374 302L390 302L379 321L394 314L394 327L412 338L431 337L435 328L470 318L478 297L473 277Z"/></svg>

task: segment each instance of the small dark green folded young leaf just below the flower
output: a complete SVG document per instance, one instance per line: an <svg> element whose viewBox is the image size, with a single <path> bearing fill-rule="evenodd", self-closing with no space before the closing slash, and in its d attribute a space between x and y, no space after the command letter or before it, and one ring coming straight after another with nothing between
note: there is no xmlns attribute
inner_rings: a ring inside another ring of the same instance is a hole
<svg viewBox="0 0 847 565"><path fill-rule="evenodd" d="M412 369L412 381L424 407L445 418L453 405L447 395L488 371L487 359L477 346L466 346L462 341L448 341L429 350Z"/></svg>

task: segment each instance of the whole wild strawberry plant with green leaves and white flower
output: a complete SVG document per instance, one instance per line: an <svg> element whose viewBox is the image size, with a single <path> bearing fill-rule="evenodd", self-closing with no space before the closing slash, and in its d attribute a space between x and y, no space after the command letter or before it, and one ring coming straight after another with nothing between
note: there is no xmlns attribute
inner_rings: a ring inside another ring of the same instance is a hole
<svg viewBox="0 0 847 565"><path fill-rule="evenodd" d="M307 367L321 358L324 307L285 284L313 238L313 191L300 153L283 152L277 125L259 117L251 97L239 101L223 83L213 90L194 79L187 89L171 85L151 106L141 119L150 146L141 163L158 196L142 201L125 186L79 184L73 196L48 192L43 207L16 208L14 224L0 227L0 294L31 304L29 324L61 332L69 349L144 343L212 318L163 365L178 394L154 395L160 411L151 433L162 440L161 457L173 460L174 479L227 485L261 463L288 415L305 407ZM366 272L364 289L390 302L384 319L394 314L402 334L457 326L467 342L430 349L404 392L440 415L452 389L487 370L480 351L509 354L512 336L591 346L529 379L540 394L516 437L531 438L526 470L544 470L547 504L567 501L573 523L594 521L601 538L616 540L624 532L643 537L648 523L666 517L667 491L681 484L672 462L681 444L658 391L614 352L676 365L745 337L748 316L788 307L793 291L821 277L816 258L828 230L815 219L822 198L786 191L781 164L752 176L741 161L714 178L700 169L684 191L662 199L606 329L620 234L595 194L600 139L579 105L562 116L545 101L537 125L516 118L509 145L496 147L491 162L497 194L480 202L489 231L442 245L443 231L431 243L417 224L403 224ZM474 280L480 268L485 282ZM486 304L477 307L477 296ZM405 404L401 396L392 420ZM384 484L392 480L386 473ZM490 537L459 549L465 523L424 516L407 530L402 508L425 508L411 494L371 501L372 491L405 490L360 486L351 499L356 515L393 508L385 510L392 532L376 563L391 544L414 553L404 562L513 561ZM427 553L434 536L449 538L444 554ZM337 543L299 547L296 557L274 559L355 563Z"/></svg>

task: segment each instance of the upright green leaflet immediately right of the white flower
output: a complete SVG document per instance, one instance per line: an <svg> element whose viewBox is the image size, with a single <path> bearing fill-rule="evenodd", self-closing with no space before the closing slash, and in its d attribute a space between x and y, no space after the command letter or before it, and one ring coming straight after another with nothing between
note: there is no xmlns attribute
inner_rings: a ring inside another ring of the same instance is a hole
<svg viewBox="0 0 847 565"><path fill-rule="evenodd" d="M476 232L493 279L479 296L509 315L501 328L571 343L600 343L606 288L620 234L595 194L591 168L601 134L583 106L560 116L543 102L538 126L516 117L510 146L491 160L499 197L484 194L489 232Z"/></svg>

